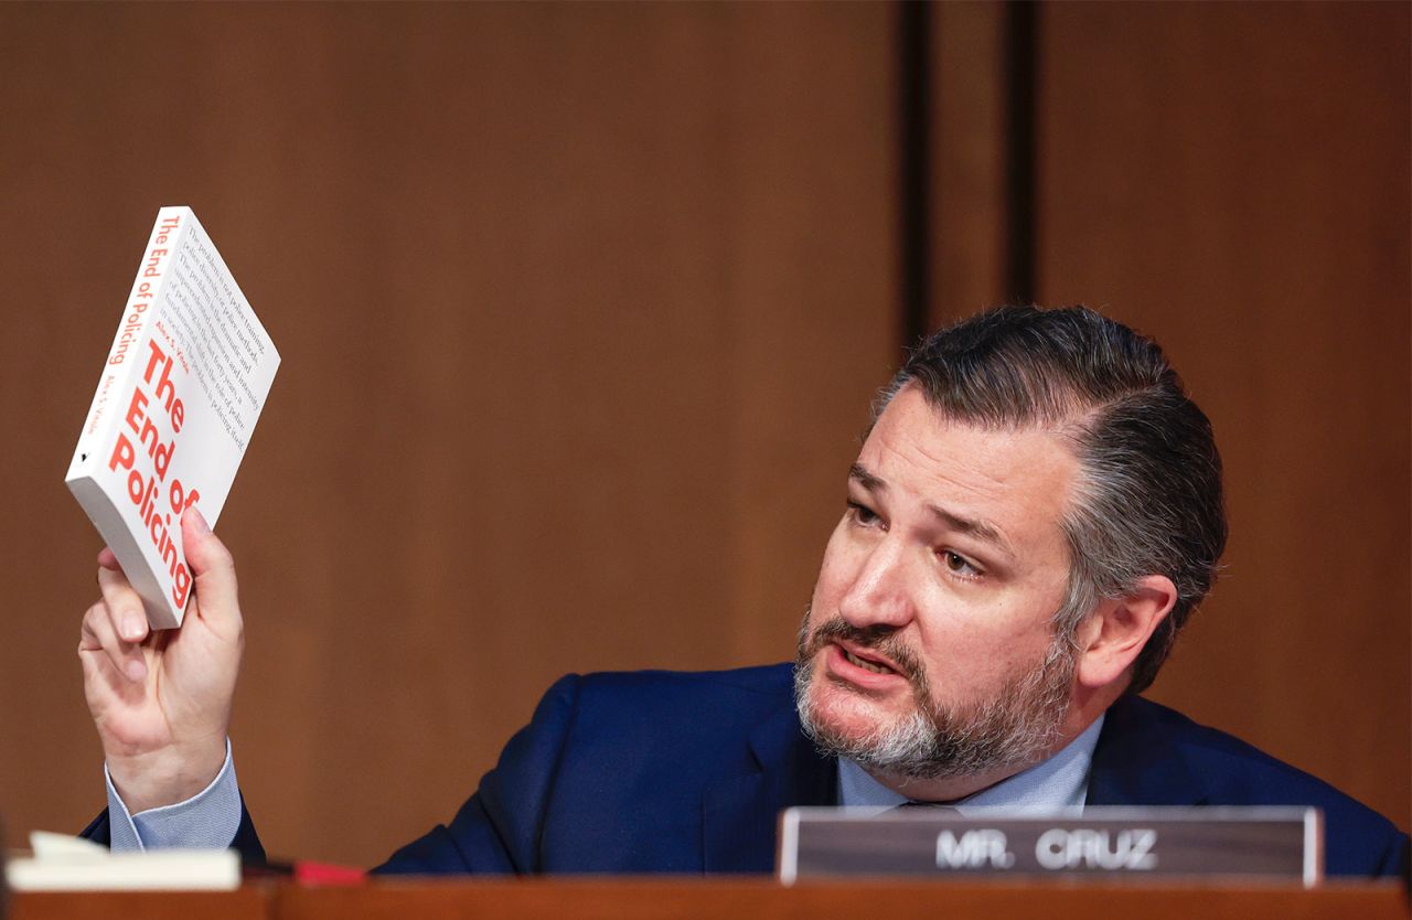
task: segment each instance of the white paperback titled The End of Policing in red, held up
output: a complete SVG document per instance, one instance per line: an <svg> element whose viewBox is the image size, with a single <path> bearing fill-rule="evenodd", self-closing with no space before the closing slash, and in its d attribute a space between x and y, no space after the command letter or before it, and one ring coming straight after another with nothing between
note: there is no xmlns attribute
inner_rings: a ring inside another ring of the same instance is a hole
<svg viewBox="0 0 1412 920"><path fill-rule="evenodd" d="M154 629L192 594L181 516L216 525L278 367L196 214L162 207L64 480Z"/></svg>

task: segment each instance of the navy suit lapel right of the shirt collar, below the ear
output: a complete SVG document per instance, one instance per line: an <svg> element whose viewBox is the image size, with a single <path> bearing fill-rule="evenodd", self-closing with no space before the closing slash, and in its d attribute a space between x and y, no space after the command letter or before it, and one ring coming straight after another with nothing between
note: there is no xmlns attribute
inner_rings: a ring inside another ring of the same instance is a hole
<svg viewBox="0 0 1412 920"><path fill-rule="evenodd" d="M1089 773L1091 806L1204 804L1206 790L1162 725L1163 710L1141 697L1108 707Z"/></svg>

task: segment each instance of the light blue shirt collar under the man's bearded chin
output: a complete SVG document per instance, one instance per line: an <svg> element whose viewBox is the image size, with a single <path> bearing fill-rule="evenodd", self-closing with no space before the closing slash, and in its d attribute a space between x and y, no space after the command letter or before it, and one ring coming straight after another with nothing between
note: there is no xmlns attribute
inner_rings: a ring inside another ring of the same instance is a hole
<svg viewBox="0 0 1412 920"><path fill-rule="evenodd" d="M1029 813L1083 809L1089 793L1089 766L1103 731L1103 718L1099 715L1053 756L950 804L963 816L994 807ZM839 761L839 804L891 809L907 800L853 761Z"/></svg>

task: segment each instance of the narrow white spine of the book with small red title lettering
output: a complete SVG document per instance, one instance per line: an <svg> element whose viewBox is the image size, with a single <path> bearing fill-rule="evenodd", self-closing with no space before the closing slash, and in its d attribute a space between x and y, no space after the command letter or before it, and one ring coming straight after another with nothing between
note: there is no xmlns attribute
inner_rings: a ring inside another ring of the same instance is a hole
<svg viewBox="0 0 1412 920"><path fill-rule="evenodd" d="M155 322L152 306L167 278L171 257L191 222L189 207L162 207L157 212L152 234L137 267L137 278L133 279L133 289L127 295L123 320L103 363L103 374L99 377L65 480L89 474L102 463L99 454L103 443L109 440L104 435L113 430L116 418L123 411L121 401L130 391L128 384L141 365L141 346L151 334Z"/></svg>

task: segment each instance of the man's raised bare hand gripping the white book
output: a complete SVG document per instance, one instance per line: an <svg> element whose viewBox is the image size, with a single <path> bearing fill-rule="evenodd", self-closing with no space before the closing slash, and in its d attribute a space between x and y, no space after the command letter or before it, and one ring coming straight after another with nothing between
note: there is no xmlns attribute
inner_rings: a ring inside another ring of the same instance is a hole
<svg viewBox="0 0 1412 920"><path fill-rule="evenodd" d="M196 579L181 629L148 631L143 598L104 549L103 600L79 634L89 713L113 785L134 814L189 799L220 772L244 646L230 553L195 507L181 523Z"/></svg>

